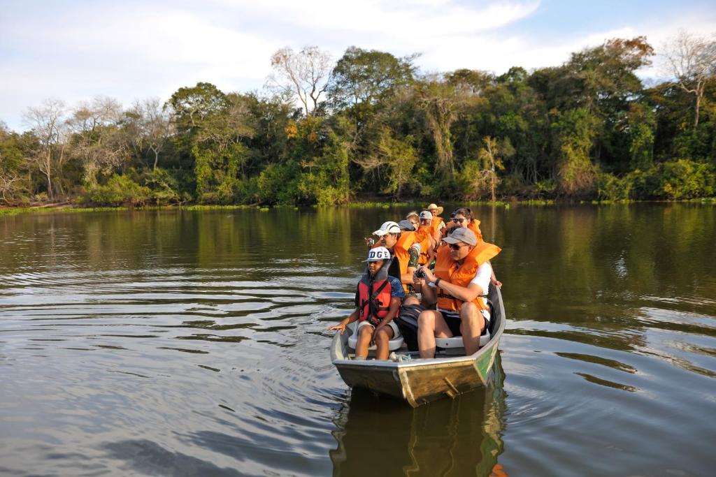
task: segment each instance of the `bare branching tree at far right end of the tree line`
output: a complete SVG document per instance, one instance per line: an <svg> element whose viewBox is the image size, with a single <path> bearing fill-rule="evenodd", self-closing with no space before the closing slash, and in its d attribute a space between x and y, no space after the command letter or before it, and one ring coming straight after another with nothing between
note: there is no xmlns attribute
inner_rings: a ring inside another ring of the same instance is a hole
<svg viewBox="0 0 716 477"><path fill-rule="evenodd" d="M676 84L695 97L696 129L706 83L716 77L716 41L679 31L674 39L664 45L664 51Z"/></svg>

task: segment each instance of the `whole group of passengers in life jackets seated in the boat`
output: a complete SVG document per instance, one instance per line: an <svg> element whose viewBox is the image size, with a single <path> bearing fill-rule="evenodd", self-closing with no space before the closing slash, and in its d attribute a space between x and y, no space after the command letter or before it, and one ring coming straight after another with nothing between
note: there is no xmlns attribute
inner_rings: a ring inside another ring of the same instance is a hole
<svg viewBox="0 0 716 477"><path fill-rule="evenodd" d="M435 357L435 338L462 336L465 354L480 347L488 333L490 283L501 287L490 259L500 247L483 240L480 221L467 207L446 222L442 207L430 204L405 220L384 222L372 237L366 270L356 290L356 308L329 330L344 333L358 321L355 359L364 360L375 343L375 358L385 360L389 342L402 335L420 358Z"/></svg>

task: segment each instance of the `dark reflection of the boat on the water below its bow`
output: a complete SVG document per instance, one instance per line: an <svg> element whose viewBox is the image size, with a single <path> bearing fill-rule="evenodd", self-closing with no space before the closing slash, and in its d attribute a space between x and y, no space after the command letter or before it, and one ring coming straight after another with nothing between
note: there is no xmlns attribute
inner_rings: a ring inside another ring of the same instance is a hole
<svg viewBox="0 0 716 477"><path fill-rule="evenodd" d="M339 410L334 476L487 476L503 452L504 372L488 388L418 408L352 390Z"/></svg>

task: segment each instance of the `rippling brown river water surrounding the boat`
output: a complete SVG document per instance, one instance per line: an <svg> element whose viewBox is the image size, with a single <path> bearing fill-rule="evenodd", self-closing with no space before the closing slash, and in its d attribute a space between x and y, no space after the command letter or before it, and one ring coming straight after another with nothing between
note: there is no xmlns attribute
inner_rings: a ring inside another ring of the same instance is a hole
<svg viewBox="0 0 716 477"><path fill-rule="evenodd" d="M407 211L0 216L0 474L714 475L716 207L478 207L495 379L417 409L325 331Z"/></svg>

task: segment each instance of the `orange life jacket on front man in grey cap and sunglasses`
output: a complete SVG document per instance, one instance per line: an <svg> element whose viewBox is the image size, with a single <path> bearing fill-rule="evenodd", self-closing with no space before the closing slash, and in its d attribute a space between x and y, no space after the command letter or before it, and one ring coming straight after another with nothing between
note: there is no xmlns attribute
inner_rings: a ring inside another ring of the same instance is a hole
<svg viewBox="0 0 716 477"><path fill-rule="evenodd" d="M463 259L463 264L460 265L458 262L453 260L453 257L450 256L450 247L440 247L440 250L437 250L437 260L435 262L435 270L433 272L436 277L444 280L445 282L452 283L453 285L458 285L460 287L468 287L468 285L470 285L470 281L473 280L475 274L478 272L478 267L495 257L495 255L498 255L500 251L501 249L497 245L493 245L488 242L478 242L478 245L475 245L475 248L470 250L468 256ZM483 290L485 293L487 293L487 291L488 290ZM437 308L440 308L440 310L455 312L460 311L460 308L464 303L462 300L459 300L445 290L442 290L440 285L437 286L436 292ZM482 300L482 297L480 296L475 297L472 303L475 303L480 310L487 309L485 301Z"/></svg>

